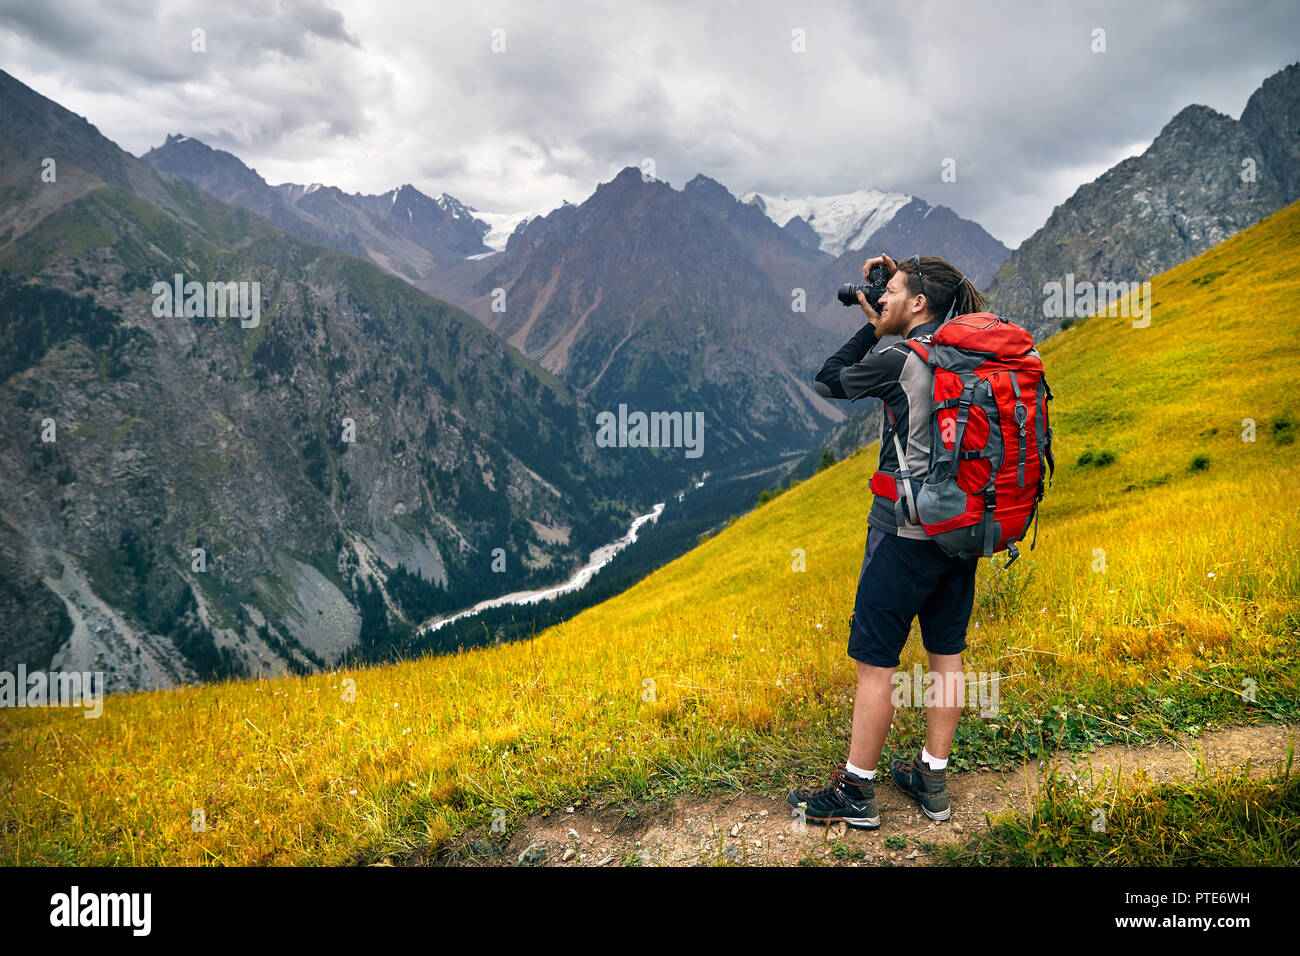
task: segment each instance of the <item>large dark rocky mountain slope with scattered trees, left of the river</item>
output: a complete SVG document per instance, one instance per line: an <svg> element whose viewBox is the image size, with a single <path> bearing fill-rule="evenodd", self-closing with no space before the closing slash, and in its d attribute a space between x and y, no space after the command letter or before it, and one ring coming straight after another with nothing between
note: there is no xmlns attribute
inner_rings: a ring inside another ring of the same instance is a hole
<svg viewBox="0 0 1300 956"><path fill-rule="evenodd" d="M598 446L590 403L454 306L4 73L0 101L0 669L121 689L378 659L563 580L698 471Z"/></svg>

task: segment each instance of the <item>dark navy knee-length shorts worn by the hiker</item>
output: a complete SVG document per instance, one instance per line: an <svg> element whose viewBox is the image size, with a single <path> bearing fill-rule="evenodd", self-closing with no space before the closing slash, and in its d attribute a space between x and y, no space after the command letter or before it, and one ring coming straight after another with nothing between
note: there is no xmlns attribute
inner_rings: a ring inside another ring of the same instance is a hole
<svg viewBox="0 0 1300 956"><path fill-rule="evenodd" d="M976 563L945 554L933 541L871 525L849 626L849 657L897 667L918 617L926 650L959 654L975 605Z"/></svg>

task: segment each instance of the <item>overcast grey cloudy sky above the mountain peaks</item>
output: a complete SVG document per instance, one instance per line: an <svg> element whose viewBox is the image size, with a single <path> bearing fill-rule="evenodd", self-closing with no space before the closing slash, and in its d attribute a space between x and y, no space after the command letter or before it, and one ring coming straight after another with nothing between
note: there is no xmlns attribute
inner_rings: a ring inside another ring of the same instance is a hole
<svg viewBox="0 0 1300 956"><path fill-rule="evenodd" d="M0 0L0 68L136 155L185 133L272 183L494 212L651 159L911 193L1011 247L1182 107L1239 117L1297 36L1295 0Z"/></svg>

